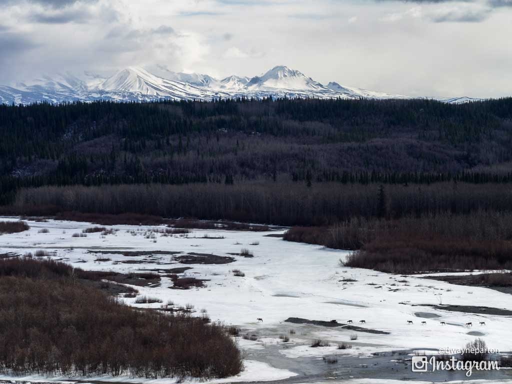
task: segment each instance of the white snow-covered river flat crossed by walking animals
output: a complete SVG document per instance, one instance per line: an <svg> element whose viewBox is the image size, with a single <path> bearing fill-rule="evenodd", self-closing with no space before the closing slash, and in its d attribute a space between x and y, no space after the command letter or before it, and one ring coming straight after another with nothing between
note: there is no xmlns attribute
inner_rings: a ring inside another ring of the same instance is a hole
<svg viewBox="0 0 512 384"><path fill-rule="evenodd" d="M116 230L106 236L98 232L88 233L87 237L72 237L74 233L81 233L82 229L93 224L55 220L27 222L30 225L29 230L0 236L0 254L24 254L44 249L55 252L52 258L75 267L124 273L191 267L180 274L180 277L191 276L207 280L205 287L188 290L169 289L173 282L166 277L161 279L159 286L135 288L139 290L140 295L157 296L163 303L173 301L176 305L194 305L197 311L194 315L202 315L200 310L204 308L212 321L236 325L241 328L241 334L254 333L257 336L258 340L255 341L237 337L239 347L244 351L246 371L239 377L214 380L215 382L275 381L289 377L291 379L288 380L292 380L296 375L305 374L297 371L297 367L302 365L310 364L312 370L323 369L327 372L326 364L322 360L322 356L326 355L336 355L340 366L343 365L343 359L360 360L360 364L364 365L375 358L374 353L396 353L402 350L403 360L408 356L410 358L415 351L421 353L424 350L432 350L429 353L436 353L439 348L463 348L467 342L478 336L485 340L489 348L499 349L501 352L512 350L510 316L453 312L421 306L442 304L511 309L512 295L487 288L459 286L415 276L343 267L339 262L345 260L350 254L349 251L286 242L278 237L267 236L283 233L283 229L268 232L191 230L186 236L163 236L162 233L151 232L163 229L164 226L116 225L105 226ZM41 229L48 229L49 232L40 233ZM251 245L257 243L259 244ZM245 258L230 254L240 253L242 248L249 249L254 257ZM102 253L94 253L98 251ZM122 255L120 251L167 251L169 254L159 252L154 255L132 256ZM170 252L182 253L173 255ZM189 252L231 256L235 261L229 264L184 265L174 259ZM95 261L98 258L110 260ZM233 275L233 269L242 271L245 276ZM135 307L159 308L161 305L135 304L135 298L121 300ZM263 322L257 321L260 317ZM389 334L360 332L340 326L286 323L285 319L288 317L326 322L336 320L344 324L352 320L356 326L359 326L360 320L365 320L366 324L361 327ZM414 322L413 325L407 324L410 320ZM421 325L422 321L426 321L426 325ZM440 322L445 322L446 325L443 326ZM472 328L465 327L468 322L473 323ZM479 326L480 322L485 322L486 326ZM290 330L294 333L290 333ZM469 332L472 334L468 334ZM357 339L351 340L354 334L357 334ZM289 336L290 341L284 342L279 338L280 335ZM330 343L330 346L311 348L312 341L317 338ZM340 343L349 343L352 348L337 349ZM397 357L387 358L388 361L397 361L392 359ZM400 363L400 369L403 371L401 373L411 380L431 382L426 376L414 376L410 365L407 370L404 369L403 361ZM314 381L301 381L300 376L296 376L292 382L395 382L394 377L386 374L383 374L382 380L365 381L360 379L364 376L336 375L335 368L331 371L334 373L314 376ZM342 376L342 381L328 380L329 377L341 380ZM3 378L6 377L0 376L0 379ZM50 380L35 376L16 378L24 379ZM65 378L52 378L63 379ZM145 380L129 377L89 379L170 382L168 379ZM284 382L289 382L288 380ZM440 381L444 380L446 378L443 376ZM496 380L478 382L505 382L502 377Z"/></svg>

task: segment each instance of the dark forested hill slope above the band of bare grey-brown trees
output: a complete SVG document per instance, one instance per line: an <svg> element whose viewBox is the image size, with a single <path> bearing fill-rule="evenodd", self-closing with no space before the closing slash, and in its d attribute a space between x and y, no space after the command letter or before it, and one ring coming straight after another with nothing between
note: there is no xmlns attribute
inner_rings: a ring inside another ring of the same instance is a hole
<svg viewBox="0 0 512 384"><path fill-rule="evenodd" d="M0 188L509 181L512 98L0 106Z"/></svg>

